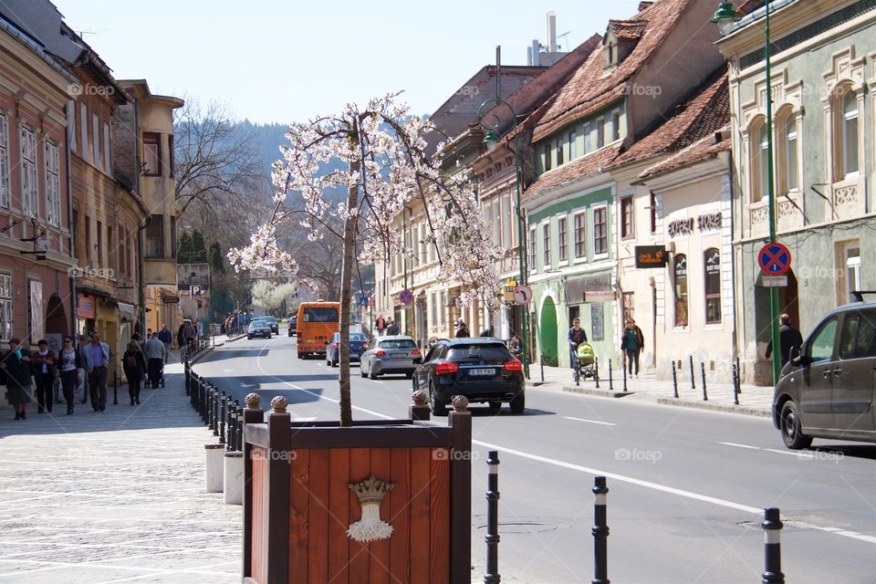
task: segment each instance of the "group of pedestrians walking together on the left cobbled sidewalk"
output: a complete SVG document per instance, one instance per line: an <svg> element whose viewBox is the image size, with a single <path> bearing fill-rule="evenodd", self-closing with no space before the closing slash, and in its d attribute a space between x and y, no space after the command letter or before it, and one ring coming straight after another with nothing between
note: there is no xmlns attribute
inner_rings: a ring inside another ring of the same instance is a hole
<svg viewBox="0 0 876 584"><path fill-rule="evenodd" d="M161 331L147 332L146 339L134 333L121 357L121 367L128 379L130 404L140 403L141 383L144 377L152 387L162 380L164 363L168 360L171 332L166 325ZM110 346L100 340L97 331L89 335L89 342L79 349L75 340L64 337L62 348L48 349L48 341L40 339L36 352L21 344L21 339L9 339L9 349L0 355L0 385L5 385L8 400L16 412L16 420L26 420L27 405L34 401L36 393L37 413L52 412L55 403L56 382L60 385L67 402L67 415L72 415L76 390L83 386L79 370L85 370L88 394L83 392L81 403L87 403L90 395L95 412L107 408L107 371L112 362ZM35 387L36 386L36 387Z"/></svg>

